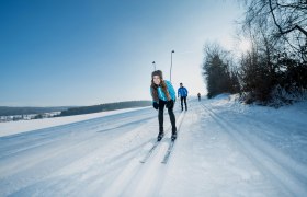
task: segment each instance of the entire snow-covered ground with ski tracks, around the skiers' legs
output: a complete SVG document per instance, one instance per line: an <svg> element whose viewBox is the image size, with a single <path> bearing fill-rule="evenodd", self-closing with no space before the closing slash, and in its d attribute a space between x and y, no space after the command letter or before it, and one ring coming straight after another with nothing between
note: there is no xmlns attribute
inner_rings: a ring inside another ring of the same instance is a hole
<svg viewBox="0 0 307 197"><path fill-rule="evenodd" d="M167 114L166 137L139 162L158 135L151 107L0 124L0 196L307 196L307 102L274 109L220 95L179 108L167 164Z"/></svg>

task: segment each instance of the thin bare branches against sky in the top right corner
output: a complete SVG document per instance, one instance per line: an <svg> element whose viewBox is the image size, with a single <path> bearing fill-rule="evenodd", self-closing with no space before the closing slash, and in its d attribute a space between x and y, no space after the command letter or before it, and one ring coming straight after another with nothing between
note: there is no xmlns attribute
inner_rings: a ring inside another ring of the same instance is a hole
<svg viewBox="0 0 307 197"><path fill-rule="evenodd" d="M307 61L307 0L245 0L245 30L265 26L272 39Z"/></svg>

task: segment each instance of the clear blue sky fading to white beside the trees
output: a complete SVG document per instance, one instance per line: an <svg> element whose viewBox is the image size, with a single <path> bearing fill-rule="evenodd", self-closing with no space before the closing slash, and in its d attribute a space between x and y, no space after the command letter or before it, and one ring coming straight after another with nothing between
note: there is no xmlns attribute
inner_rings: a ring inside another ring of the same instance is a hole
<svg viewBox="0 0 307 197"><path fill-rule="evenodd" d="M235 44L242 10L223 0L0 2L0 105L62 106L150 100L161 69L206 93L203 45Z"/></svg>

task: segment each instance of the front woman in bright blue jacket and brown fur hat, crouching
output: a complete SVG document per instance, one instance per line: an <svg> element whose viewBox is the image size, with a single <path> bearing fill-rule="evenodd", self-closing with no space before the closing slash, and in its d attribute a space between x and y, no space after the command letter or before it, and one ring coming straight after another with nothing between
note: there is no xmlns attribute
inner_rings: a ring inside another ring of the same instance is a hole
<svg viewBox="0 0 307 197"><path fill-rule="evenodd" d="M171 84L171 82L163 80L162 71L156 70L151 73L151 85L150 93L152 96L152 106L158 113L159 119L159 135L158 141L160 141L164 136L163 130L163 112L164 106L168 108L168 113L170 116L171 125L172 125L172 140L177 138L177 127L175 127L175 117L173 114L173 105L175 102L175 92Z"/></svg>

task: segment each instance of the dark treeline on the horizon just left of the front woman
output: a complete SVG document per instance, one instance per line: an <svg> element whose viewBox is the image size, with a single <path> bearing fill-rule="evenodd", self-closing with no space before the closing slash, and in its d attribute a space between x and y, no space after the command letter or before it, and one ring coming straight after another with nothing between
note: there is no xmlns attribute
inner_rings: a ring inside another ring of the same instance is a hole
<svg viewBox="0 0 307 197"><path fill-rule="evenodd" d="M144 107L149 105L151 105L150 101L128 101L128 102L118 102L118 103L106 103L100 105L68 108L66 111L62 111L59 116L91 114L91 113L115 111L122 108Z"/></svg>

